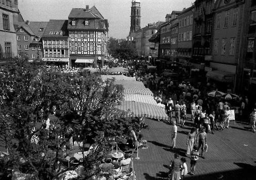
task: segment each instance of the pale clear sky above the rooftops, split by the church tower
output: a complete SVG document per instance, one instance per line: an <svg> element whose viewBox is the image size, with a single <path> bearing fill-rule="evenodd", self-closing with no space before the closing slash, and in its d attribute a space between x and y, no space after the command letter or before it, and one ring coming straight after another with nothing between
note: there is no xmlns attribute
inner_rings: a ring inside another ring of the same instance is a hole
<svg viewBox="0 0 256 180"><path fill-rule="evenodd" d="M195 0L140 0L140 28L165 21L166 14L188 8ZM19 0L24 21L68 20L72 8L95 6L109 24L109 37L129 35L132 0Z"/></svg>

